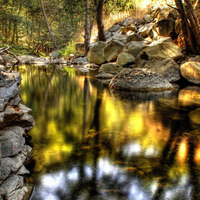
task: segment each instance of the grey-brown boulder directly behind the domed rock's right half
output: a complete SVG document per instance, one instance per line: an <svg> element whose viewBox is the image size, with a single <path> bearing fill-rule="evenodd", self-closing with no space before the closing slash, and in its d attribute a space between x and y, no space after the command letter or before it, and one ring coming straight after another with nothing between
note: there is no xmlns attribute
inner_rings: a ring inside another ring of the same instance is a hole
<svg viewBox="0 0 200 200"><path fill-rule="evenodd" d="M169 82L175 82L180 79L180 69L178 64L171 58L164 60L148 60L144 68L149 68L163 75Z"/></svg>

